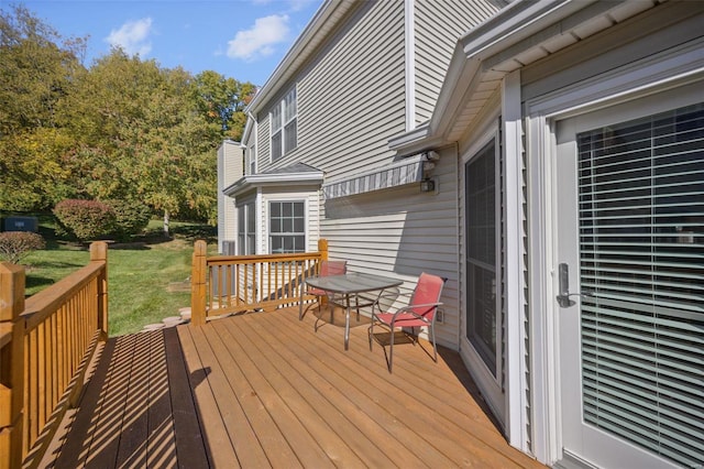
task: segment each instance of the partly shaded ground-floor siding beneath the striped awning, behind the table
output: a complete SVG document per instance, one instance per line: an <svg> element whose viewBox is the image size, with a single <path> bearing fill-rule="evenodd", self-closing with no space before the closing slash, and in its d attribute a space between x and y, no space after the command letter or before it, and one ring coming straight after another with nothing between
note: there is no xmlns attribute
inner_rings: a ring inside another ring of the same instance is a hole
<svg viewBox="0 0 704 469"><path fill-rule="evenodd" d="M355 271L382 273L404 280L409 293L420 272L448 277L442 291L443 323L437 340L458 347L458 219L453 148L440 151L433 170L440 190L420 193L418 185L402 186L326 203L333 219L322 220L330 254L348 260Z"/></svg>

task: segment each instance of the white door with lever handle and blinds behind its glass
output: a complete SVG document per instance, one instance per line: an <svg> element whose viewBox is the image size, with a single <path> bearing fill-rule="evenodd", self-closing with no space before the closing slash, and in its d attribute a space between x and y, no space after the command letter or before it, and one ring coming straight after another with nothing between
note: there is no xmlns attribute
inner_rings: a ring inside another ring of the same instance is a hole
<svg viewBox="0 0 704 469"><path fill-rule="evenodd" d="M704 103L648 99L557 123L562 446L600 468L704 466Z"/></svg>

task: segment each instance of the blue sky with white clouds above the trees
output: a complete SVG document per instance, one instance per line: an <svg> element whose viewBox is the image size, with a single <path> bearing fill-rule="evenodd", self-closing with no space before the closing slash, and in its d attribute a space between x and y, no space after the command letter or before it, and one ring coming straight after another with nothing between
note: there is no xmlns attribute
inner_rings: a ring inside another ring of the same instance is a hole
<svg viewBox="0 0 704 469"><path fill-rule="evenodd" d="M11 0L0 0L6 9ZM264 85L322 0L18 0L64 37L88 37L85 61L130 54Z"/></svg>

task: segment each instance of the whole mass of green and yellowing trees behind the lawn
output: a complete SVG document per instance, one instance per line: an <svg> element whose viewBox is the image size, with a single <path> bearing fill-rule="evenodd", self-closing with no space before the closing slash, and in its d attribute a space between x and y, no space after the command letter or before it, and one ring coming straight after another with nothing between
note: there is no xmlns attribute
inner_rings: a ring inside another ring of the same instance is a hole
<svg viewBox="0 0 704 469"><path fill-rule="evenodd" d="M85 68L86 47L0 9L0 210L136 199L215 222L216 150L241 138L254 85L119 48Z"/></svg>

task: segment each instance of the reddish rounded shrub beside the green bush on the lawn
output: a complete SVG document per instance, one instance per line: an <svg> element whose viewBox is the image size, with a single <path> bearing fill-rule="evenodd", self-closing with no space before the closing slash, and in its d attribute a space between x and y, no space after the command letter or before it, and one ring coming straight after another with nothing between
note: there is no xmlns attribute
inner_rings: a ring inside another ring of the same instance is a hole
<svg viewBox="0 0 704 469"><path fill-rule="evenodd" d="M54 215L65 232L81 241L105 238L116 230L114 210L97 200L62 200Z"/></svg>

